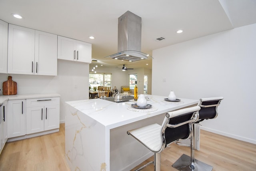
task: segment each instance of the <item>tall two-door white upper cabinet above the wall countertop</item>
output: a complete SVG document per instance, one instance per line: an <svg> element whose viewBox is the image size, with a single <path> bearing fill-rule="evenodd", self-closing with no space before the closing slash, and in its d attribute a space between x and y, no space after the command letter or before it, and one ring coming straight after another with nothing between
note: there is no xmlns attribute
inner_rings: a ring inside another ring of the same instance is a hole
<svg viewBox="0 0 256 171"><path fill-rule="evenodd" d="M57 35L9 24L8 74L57 75Z"/></svg>

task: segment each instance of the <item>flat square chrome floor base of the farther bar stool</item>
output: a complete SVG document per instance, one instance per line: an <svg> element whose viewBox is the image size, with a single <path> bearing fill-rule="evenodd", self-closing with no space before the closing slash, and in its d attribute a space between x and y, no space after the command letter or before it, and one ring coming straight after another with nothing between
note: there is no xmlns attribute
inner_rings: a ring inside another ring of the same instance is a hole
<svg viewBox="0 0 256 171"><path fill-rule="evenodd" d="M180 158L173 163L172 167L179 171L212 171L213 167L194 159L194 163L191 162L191 157L183 154Z"/></svg>

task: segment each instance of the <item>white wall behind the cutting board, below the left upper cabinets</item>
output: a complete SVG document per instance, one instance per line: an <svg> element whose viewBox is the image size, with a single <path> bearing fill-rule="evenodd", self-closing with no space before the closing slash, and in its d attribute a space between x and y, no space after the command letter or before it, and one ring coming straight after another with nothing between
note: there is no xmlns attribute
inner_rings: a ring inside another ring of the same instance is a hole
<svg viewBox="0 0 256 171"><path fill-rule="evenodd" d="M65 101L89 98L89 64L58 60L58 76L34 76L22 74L0 74L2 84L12 76L17 82L18 94L59 93L60 122L65 120ZM77 85L77 88L74 88Z"/></svg>

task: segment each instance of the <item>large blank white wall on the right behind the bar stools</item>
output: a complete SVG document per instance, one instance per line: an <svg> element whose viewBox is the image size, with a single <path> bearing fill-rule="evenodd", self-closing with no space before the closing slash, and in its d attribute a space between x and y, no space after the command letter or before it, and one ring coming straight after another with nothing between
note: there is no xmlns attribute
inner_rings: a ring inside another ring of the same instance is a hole
<svg viewBox="0 0 256 171"><path fill-rule="evenodd" d="M203 121L202 129L256 144L256 24L157 49L153 56L152 94L223 96L218 117Z"/></svg>

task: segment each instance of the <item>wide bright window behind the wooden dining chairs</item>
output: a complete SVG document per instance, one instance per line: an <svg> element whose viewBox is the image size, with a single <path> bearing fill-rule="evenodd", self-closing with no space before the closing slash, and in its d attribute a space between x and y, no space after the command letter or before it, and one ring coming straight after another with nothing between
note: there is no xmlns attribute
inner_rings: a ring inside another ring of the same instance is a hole
<svg viewBox="0 0 256 171"><path fill-rule="evenodd" d="M112 74L108 73L89 73L89 88L93 89L98 86L111 87Z"/></svg>

